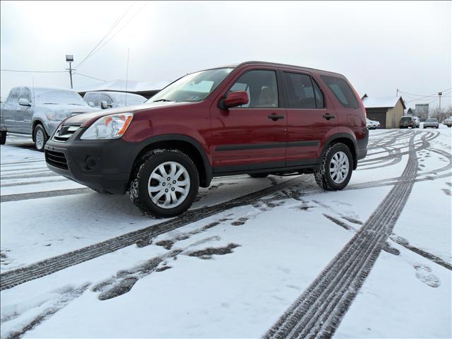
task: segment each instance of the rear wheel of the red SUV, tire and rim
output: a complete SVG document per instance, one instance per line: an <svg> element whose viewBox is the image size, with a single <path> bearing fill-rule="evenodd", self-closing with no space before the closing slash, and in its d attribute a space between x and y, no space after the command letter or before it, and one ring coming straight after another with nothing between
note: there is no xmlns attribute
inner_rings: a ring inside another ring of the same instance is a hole
<svg viewBox="0 0 452 339"><path fill-rule="evenodd" d="M331 167L333 157L338 159L343 165L338 166L338 172L331 172L333 168ZM345 166L346 172L341 170ZM335 143L333 145L328 145L325 154L323 154L320 169L314 171L314 177L316 178L316 183L327 191L338 191L347 186L352 177L353 171L353 156L347 145L343 143ZM341 177L342 174L342 177ZM333 177L335 179L333 179Z"/></svg>

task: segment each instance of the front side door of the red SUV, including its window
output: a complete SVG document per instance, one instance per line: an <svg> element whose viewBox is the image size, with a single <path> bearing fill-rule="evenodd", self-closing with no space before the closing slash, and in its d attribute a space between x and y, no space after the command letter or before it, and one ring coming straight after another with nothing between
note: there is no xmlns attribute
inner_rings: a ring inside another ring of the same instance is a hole
<svg viewBox="0 0 452 339"><path fill-rule="evenodd" d="M286 125L278 76L273 69L245 69L227 92L246 91L249 103L211 111L211 154L215 173L285 166ZM226 94L226 93L224 93Z"/></svg>

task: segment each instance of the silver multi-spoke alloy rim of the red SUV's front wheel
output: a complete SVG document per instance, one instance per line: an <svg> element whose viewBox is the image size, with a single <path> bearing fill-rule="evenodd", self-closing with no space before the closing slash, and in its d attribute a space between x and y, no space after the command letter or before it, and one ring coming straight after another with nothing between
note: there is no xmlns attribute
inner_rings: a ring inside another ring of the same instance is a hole
<svg viewBox="0 0 452 339"><path fill-rule="evenodd" d="M155 167L148 180L148 193L160 208L174 208L183 203L190 191L190 176L179 162L168 161Z"/></svg>

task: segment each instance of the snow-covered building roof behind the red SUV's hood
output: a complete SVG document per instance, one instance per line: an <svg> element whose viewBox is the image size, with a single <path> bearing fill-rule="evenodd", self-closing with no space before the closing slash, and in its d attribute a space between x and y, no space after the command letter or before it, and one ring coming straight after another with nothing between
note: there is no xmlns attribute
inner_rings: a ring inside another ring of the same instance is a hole
<svg viewBox="0 0 452 339"><path fill-rule="evenodd" d="M125 80L112 80L105 81L103 83L96 83L95 85L83 86L76 88L78 94L82 97L86 92L90 91L110 91L110 92L127 92L143 95L146 99L149 99L155 93L162 88L169 85L170 81L125 81Z"/></svg>

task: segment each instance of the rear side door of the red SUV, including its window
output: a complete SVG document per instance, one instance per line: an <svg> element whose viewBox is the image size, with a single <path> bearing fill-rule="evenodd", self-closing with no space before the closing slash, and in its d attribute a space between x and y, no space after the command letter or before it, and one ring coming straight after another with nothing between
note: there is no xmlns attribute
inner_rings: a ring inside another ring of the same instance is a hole
<svg viewBox="0 0 452 339"><path fill-rule="evenodd" d="M337 124L335 110L308 73L285 71L287 88L287 167L311 165Z"/></svg>

